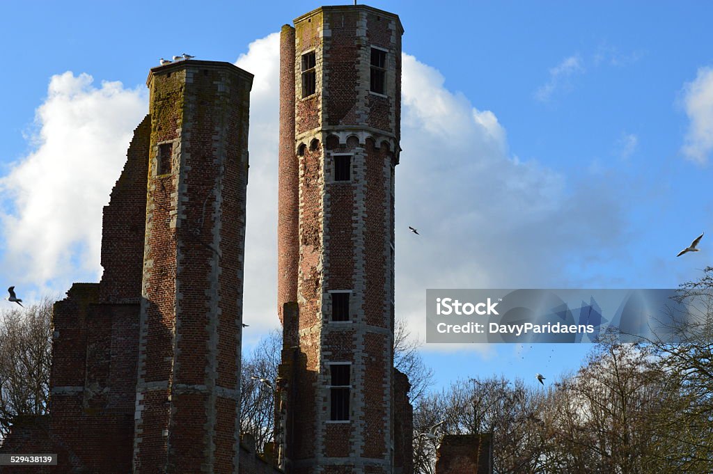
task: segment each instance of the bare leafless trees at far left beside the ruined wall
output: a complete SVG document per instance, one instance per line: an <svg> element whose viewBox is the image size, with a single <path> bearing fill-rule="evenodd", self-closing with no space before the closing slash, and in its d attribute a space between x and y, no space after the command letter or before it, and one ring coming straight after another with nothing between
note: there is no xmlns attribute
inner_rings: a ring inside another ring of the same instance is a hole
<svg viewBox="0 0 713 474"><path fill-rule="evenodd" d="M0 311L0 440L14 418L47 413L52 301Z"/></svg>

